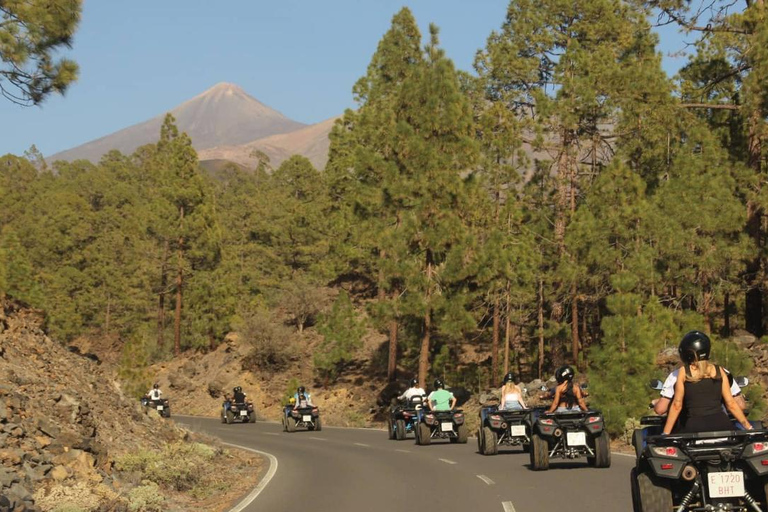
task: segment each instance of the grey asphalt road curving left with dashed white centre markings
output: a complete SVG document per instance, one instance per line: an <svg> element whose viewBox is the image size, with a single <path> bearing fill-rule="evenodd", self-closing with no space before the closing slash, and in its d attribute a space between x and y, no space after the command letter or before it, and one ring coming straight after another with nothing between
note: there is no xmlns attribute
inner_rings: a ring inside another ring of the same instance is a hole
<svg viewBox="0 0 768 512"><path fill-rule="evenodd" d="M275 423L223 425L217 419L176 417L193 430L274 455L278 469L243 510L288 512L392 512L394 510L568 512L631 510L631 457L614 454L607 469L586 459L553 459L549 471L531 471L528 454L502 448L498 455L412 437L390 441L380 430L323 427L282 432Z"/></svg>

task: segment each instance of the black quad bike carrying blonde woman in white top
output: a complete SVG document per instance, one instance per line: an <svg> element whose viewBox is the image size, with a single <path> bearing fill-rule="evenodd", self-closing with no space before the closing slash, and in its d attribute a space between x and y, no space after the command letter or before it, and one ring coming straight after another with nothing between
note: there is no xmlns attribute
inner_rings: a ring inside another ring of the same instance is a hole
<svg viewBox="0 0 768 512"><path fill-rule="evenodd" d="M496 455L499 446L519 446L527 452L531 446L532 413L533 409L499 410L498 405L480 409L477 451L483 455Z"/></svg>

